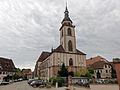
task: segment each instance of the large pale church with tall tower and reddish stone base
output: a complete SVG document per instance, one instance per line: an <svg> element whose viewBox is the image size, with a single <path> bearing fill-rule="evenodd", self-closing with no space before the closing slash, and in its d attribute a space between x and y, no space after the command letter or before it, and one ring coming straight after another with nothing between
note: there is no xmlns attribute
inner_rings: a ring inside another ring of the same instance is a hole
<svg viewBox="0 0 120 90"><path fill-rule="evenodd" d="M86 67L86 54L76 48L75 26L69 17L67 6L61 24L60 45L51 52L41 53L34 70L36 77L49 79L56 76L63 63L72 73L79 71L81 67Z"/></svg>

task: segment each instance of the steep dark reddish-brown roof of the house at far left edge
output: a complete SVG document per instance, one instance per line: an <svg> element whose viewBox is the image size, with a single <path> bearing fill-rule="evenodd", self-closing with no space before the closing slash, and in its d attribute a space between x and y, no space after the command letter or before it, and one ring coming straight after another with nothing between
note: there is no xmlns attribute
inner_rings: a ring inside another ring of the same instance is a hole
<svg viewBox="0 0 120 90"><path fill-rule="evenodd" d="M0 57L0 71L15 72L16 68L11 59Z"/></svg>

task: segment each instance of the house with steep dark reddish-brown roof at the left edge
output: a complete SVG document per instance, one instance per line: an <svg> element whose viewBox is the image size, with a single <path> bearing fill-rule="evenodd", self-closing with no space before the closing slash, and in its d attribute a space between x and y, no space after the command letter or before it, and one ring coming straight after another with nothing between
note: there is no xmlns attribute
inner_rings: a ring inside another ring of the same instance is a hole
<svg viewBox="0 0 120 90"><path fill-rule="evenodd" d="M12 59L0 57L0 80L6 76L13 76L16 72L15 65Z"/></svg>

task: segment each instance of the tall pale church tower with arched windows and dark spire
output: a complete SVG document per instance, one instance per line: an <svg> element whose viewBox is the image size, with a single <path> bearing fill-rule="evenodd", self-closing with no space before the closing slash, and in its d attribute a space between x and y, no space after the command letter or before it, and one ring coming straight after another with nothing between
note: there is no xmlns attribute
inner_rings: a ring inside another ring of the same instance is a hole
<svg viewBox="0 0 120 90"><path fill-rule="evenodd" d="M75 26L72 24L72 20L69 17L67 5L64 12L64 19L61 24L60 45L63 46L65 52L76 53Z"/></svg>

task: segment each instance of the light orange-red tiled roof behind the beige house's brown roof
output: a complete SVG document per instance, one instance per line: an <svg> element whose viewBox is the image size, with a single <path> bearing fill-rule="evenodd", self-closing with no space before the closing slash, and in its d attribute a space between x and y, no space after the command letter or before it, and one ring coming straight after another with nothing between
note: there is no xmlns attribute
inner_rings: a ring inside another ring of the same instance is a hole
<svg viewBox="0 0 120 90"><path fill-rule="evenodd" d="M96 57L93 57L93 58L90 58L90 59L87 59L86 60L86 65L89 66L95 62L98 62L98 61L105 61L105 62L108 62L108 60L106 60L105 58L101 57L101 56L96 56Z"/></svg>

